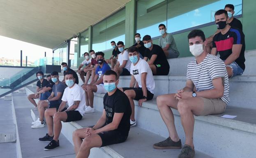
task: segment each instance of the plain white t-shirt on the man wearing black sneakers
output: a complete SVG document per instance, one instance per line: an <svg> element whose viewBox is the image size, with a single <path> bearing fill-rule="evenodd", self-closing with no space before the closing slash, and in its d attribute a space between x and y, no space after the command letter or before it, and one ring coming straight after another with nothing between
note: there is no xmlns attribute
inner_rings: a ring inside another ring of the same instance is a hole
<svg viewBox="0 0 256 158"><path fill-rule="evenodd" d="M74 105L74 101L80 101L76 111L79 111L83 116L85 113L85 91L83 88L75 83L74 87L67 87L64 90L62 101L67 101L69 107Z"/></svg>

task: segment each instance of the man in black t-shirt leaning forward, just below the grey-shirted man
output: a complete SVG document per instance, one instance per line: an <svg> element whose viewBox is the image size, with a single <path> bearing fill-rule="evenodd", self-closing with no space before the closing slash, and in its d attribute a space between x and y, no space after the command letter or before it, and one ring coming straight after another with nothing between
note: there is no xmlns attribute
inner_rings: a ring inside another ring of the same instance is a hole
<svg viewBox="0 0 256 158"><path fill-rule="evenodd" d="M168 75L170 71L169 63L164 55L163 49L153 44L150 35L143 37L143 43L146 47L144 60L148 61L153 75Z"/></svg>

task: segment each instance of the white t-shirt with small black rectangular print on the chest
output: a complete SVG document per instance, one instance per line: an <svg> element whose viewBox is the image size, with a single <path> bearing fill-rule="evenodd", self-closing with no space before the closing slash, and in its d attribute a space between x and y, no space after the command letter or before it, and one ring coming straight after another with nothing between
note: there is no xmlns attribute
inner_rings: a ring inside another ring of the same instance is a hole
<svg viewBox="0 0 256 158"><path fill-rule="evenodd" d="M119 58L118 58L119 59ZM138 82L138 87L141 86L141 73L147 73L147 78L146 78L146 86L147 89L154 94L154 89L155 89L155 80L153 78L152 71L148 65L148 62L146 62L144 59L139 58L138 63L134 66L134 64L131 64L131 75L134 76L136 81Z"/></svg>

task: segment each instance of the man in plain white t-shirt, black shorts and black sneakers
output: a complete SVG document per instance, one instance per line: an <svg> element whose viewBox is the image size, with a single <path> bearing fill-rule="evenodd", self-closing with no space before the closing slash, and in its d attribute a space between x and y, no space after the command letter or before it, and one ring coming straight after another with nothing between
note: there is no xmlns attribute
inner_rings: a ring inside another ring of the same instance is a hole
<svg viewBox="0 0 256 158"><path fill-rule="evenodd" d="M85 112L84 90L76 84L76 78L74 78L72 72L68 71L64 74L64 77L68 87L63 92L60 106L48 108L45 111L48 133L44 137L39 138L39 142L50 142L44 147L46 151L56 149L60 146L58 139L62 128L61 121L71 122L81 120ZM68 108L66 108L67 103Z"/></svg>

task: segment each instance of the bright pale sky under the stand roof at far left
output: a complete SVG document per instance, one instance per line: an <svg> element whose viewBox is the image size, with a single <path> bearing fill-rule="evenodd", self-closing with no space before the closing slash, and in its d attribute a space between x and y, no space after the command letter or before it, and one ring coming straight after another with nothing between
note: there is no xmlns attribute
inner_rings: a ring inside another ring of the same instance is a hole
<svg viewBox="0 0 256 158"><path fill-rule="evenodd" d="M4 36L0 36L0 44L0 58L20 59L22 50L23 59L25 60L26 56L28 56L28 61L34 62L35 60L44 57L44 52L46 52L47 57L52 57L53 53L53 50L50 48L37 46L35 44Z"/></svg>

